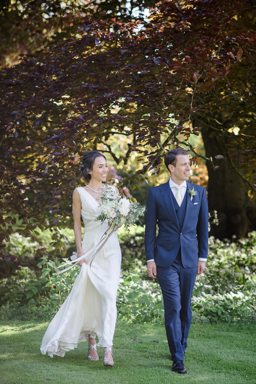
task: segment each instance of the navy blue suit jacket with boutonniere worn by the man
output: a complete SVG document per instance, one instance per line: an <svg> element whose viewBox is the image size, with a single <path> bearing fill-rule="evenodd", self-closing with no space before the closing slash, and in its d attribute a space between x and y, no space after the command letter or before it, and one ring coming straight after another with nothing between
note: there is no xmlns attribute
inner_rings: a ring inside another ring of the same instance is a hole
<svg viewBox="0 0 256 384"><path fill-rule="evenodd" d="M188 189L193 187L198 195L190 201ZM198 257L208 257L206 190L187 182L187 207L181 228L171 194L169 181L149 190L145 215L146 260L155 259L157 266L171 266L181 248L183 267L192 268L198 264ZM159 231L155 239L157 226Z"/></svg>

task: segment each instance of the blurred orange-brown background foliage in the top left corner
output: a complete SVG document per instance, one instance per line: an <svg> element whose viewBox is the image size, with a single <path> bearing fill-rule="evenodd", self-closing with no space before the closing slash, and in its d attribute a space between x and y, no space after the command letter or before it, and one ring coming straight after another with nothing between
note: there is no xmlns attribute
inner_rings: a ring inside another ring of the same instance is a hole
<svg viewBox="0 0 256 384"><path fill-rule="evenodd" d="M78 23L88 18L135 21L154 5L153 0L2 0L0 63L12 66L20 56L47 51L58 41L78 37Z"/></svg>

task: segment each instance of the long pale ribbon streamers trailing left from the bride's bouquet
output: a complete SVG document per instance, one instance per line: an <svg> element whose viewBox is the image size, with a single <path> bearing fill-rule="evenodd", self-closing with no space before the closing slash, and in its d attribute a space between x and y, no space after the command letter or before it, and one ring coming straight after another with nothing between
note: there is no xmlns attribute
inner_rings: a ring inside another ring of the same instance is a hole
<svg viewBox="0 0 256 384"><path fill-rule="evenodd" d="M84 253L84 255L80 256L79 258L77 258L77 253L75 253L74 255L71 256L70 262L67 262L67 263L64 263L64 264L57 266L56 269L61 268L62 266L65 266L65 265L73 264L73 265L69 266L68 268L63 269L62 271L56 272L56 275L60 275L61 273L64 273L64 272L68 271L69 269L73 268L75 265L77 265L77 263L80 260L83 260L84 258L86 258L87 262L89 262L91 260L91 262L90 262L90 267L91 267L92 262L93 262L94 258L96 257L97 253L99 253L99 251L101 250L103 245L107 242L107 240L112 235L112 233L115 232L117 227L118 227L118 225L113 223L111 225L111 227L109 227L108 230L102 235L99 243L97 245L95 245L95 247L93 247L91 250L89 250L89 252ZM88 256L89 256L89 258L87 259Z"/></svg>

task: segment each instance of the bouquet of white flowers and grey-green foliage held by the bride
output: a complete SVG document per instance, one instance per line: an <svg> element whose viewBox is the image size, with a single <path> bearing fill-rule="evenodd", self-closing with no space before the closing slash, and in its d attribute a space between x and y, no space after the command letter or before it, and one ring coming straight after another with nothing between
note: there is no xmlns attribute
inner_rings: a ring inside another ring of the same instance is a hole
<svg viewBox="0 0 256 384"><path fill-rule="evenodd" d="M98 207L99 215L96 220L108 221L111 227L121 227L126 230L140 221L140 216L145 212L145 207L139 203L130 202L126 197L121 197L113 192L110 187L102 192L102 204Z"/></svg>

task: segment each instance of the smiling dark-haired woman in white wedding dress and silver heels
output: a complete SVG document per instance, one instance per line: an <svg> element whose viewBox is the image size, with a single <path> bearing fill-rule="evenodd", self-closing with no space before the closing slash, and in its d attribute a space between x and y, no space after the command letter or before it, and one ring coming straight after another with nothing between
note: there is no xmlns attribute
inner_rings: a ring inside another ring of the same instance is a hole
<svg viewBox="0 0 256 384"><path fill-rule="evenodd" d="M99 243L108 229L108 223L95 222L97 207L101 204L108 166L98 151L86 152L81 166L85 187L73 192L74 235L77 258ZM118 189L111 186L113 192ZM81 236L81 216L84 236ZM78 262L80 272L65 302L49 324L41 344L41 353L64 357L77 347L79 341L88 343L88 360L99 360L96 347L104 347L104 366L113 366L113 336L116 326L116 294L121 268L121 250L114 232L94 258L91 267L86 258Z"/></svg>

